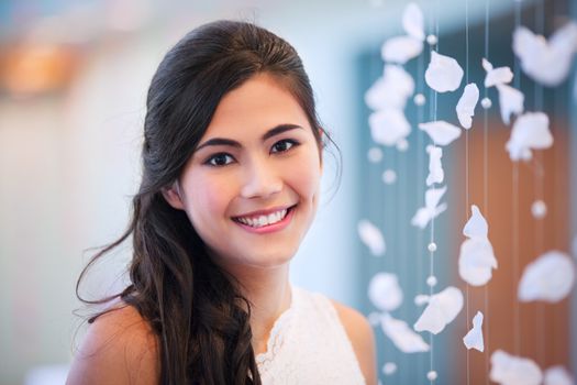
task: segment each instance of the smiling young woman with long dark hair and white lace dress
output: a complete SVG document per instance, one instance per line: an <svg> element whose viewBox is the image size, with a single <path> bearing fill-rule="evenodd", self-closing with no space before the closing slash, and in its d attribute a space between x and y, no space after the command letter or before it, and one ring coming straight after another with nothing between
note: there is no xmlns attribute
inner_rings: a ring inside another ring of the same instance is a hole
<svg viewBox="0 0 577 385"><path fill-rule="evenodd" d="M289 284L326 141L280 37L219 21L170 50L131 223L95 257L132 237L131 285L100 301L68 384L376 384L364 317Z"/></svg>

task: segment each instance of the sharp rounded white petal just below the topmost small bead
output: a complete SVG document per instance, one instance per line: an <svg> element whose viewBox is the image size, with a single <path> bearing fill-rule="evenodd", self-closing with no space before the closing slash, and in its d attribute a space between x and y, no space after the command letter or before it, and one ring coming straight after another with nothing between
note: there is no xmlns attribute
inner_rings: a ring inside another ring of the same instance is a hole
<svg viewBox="0 0 577 385"><path fill-rule="evenodd" d="M453 57L431 52L431 63L424 73L426 85L437 92L454 91L461 86L463 68Z"/></svg>

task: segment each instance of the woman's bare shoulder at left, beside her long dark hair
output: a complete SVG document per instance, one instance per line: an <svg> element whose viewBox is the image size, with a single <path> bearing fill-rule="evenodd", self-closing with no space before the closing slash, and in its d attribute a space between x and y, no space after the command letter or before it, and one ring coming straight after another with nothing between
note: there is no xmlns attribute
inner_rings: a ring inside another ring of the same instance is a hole
<svg viewBox="0 0 577 385"><path fill-rule="evenodd" d="M156 385L159 374L158 343L149 323L134 307L116 305L88 327L66 384Z"/></svg>

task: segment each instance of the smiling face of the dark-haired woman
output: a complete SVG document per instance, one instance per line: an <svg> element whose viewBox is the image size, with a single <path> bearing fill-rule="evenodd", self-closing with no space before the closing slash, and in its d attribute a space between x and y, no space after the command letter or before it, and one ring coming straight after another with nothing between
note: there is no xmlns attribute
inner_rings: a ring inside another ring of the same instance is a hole
<svg viewBox="0 0 577 385"><path fill-rule="evenodd" d="M314 217L319 146L306 113L259 74L226 94L167 196L221 265L289 261Z"/></svg>

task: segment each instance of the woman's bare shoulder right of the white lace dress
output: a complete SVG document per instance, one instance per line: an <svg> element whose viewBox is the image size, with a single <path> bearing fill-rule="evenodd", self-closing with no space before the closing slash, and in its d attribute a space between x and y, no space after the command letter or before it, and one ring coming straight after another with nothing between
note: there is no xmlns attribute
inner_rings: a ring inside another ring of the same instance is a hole
<svg viewBox="0 0 577 385"><path fill-rule="evenodd" d="M368 385L377 384L375 333L367 319L357 310L331 300L353 344L360 371Z"/></svg>

